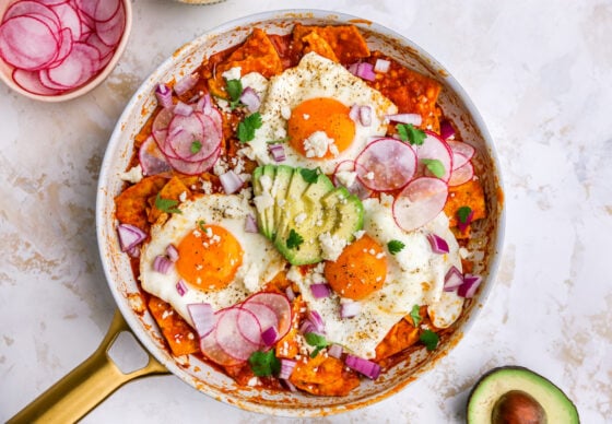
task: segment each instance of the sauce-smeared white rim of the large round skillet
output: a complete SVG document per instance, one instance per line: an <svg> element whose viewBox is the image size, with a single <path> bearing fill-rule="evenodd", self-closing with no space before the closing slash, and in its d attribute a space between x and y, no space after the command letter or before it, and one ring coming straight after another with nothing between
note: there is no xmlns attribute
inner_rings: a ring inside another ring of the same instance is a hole
<svg viewBox="0 0 612 424"><path fill-rule="evenodd" d="M172 54L168 58L166 58L153 72L151 72L148 75L148 78L142 82L142 84L139 86L139 89L137 89L133 96L131 97L131 99L126 105L126 107L123 109L123 113L121 114L121 116L118 120L118 123L115 127L115 129L114 129L114 131L110 136L110 139L109 139L109 144L107 146L107 150L106 150L103 163L102 163L102 167L101 167L98 189L97 189L98 191L97 191L97 197L96 197L96 233L97 233L98 249L99 249L99 252L101 252L101 259L102 259L102 262L103 262L104 273L105 273L105 276L107 279L107 283L109 285L109 288L113 293L113 296L115 298L115 302L119 306L119 309L121 310L126 321L128 322L128 325L130 326L132 331L134 331L134 333L138 335L138 339L141 341L141 343L144 345L144 348L149 352L151 352L162 364L164 364L175 376L179 377L186 384L188 384L189 386L191 386L196 389L198 389L198 388L190 380L188 380L187 376L184 376L184 373L185 373L184 369L181 367L179 367L174 361L170 361L166 356L164 356L163 352L160 350L160 348L157 345L155 345L151 334L145 333L142 330L142 328L141 328L142 322L140 321L137 314L134 314L134 311L126 303L123 294L120 293L120 291L118 290L117 282L114 281L114 279L113 279L113 271L114 270L110 269L110 263L109 263L108 259L105 258L105 256L104 256L104 252L106 251L106 247L107 247L105 245L107 243L107 240L105 239L105 236L108 237L108 234L104 233L106 216L104 214L105 211L102 208L102 205L106 201L105 197L107 196L107 191L108 191L108 187L106 186L106 184L109 181L110 176L111 176L110 173L114 170L114 169L111 169L111 166L110 166L111 161L117 155L118 149L120 148L119 141L120 141L120 134L123 131L123 128L122 128L123 122L132 114L132 110L138 105L138 103L141 101L141 97L150 95L151 87L154 85L154 83L158 82L158 76L161 74L163 74L164 72L172 70L173 66L178 63L183 58L189 57L192 54L192 49L196 48L202 40L204 40L205 38L215 37L217 35L227 33L227 32L229 32L232 30L235 30L237 27L244 27L245 25L254 25L254 24L258 24L258 23L262 23L262 22L267 22L267 21L271 21L271 20L275 20L275 19L299 20L299 19L306 19L306 17L307 19L320 19L320 20L334 20L334 21L338 21L339 23L349 22L349 23L365 24L373 32L379 33L379 34L385 35L385 36L390 36L395 39L398 39L402 43L402 46L404 46L405 48L415 49L417 51L419 56L422 57L427 63L429 63L435 69L443 71L444 74L443 74L443 76L440 76L440 79L444 79L445 84L448 84L448 86L461 99L461 102L464 105L464 108L469 113L470 117L473 119L474 126L475 126L475 128L478 128L478 130L481 134L481 138L484 141L484 145L487 149L487 154L490 155L490 160L491 160L492 165L495 169L495 172L494 172L494 174L495 174L494 175L495 185L498 188L498 190L501 190L502 193L503 193L503 180L502 180L501 166L499 166L497 153L496 153L494 143L491 139L491 136L490 136L490 133L486 129L486 126L485 126L484 120L482 119L480 113L478 111L478 109L475 108L474 104L472 103L470 97L467 95L464 90L461 87L461 85L446 70L446 68L443 67L439 63L439 61L434 59L427 51L425 51L423 48L417 46L415 43L413 43L407 36L402 35L400 33L397 33L396 31L392 31L392 30L390 30L390 28L388 28L388 27L386 27L381 24L372 22L369 20L360 17L360 16L355 16L355 15L348 14L348 13L342 13L342 12L320 10L320 9L281 9L281 10L259 12L259 13L249 14L249 15L246 15L246 16L242 16L242 17L238 17L238 19L231 20L231 21L225 22L221 25L217 25L213 28L204 31L202 34L197 36L195 39L186 43L185 45L183 45L181 47L176 49L174 54ZM487 266L486 284L484 284L484 287L482 287L479 291L478 305L474 305L474 307L473 307L473 309L475 309L475 310L472 310L471 314L467 317L466 321L461 325L461 327L455 331L455 333L452 335L452 340L460 341L460 339L462 339L463 334L472 327L473 321L475 320L476 316L480 313L479 309L482 309L482 305L485 303L486 298L489 297L489 294L490 294L490 292L493 287L493 284L495 282L495 275L497 273L497 269L498 269L498 266L499 266L501 256L502 256L502 247L503 247L503 243L504 243L505 208L504 208L503 198L501 200L498 200L497 208L498 208L498 210L497 210L497 225L496 225L496 231L495 231L495 244L494 244L494 247L492 248L492 257L487 261L489 266ZM454 346L457 343L452 343L452 344L454 344L452 348L449 348L450 351L452 351ZM448 355L448 352L446 352L446 351L447 350L445 350L444 352L439 352L432 361L428 361L427 363L423 364L419 369L416 369L410 376L410 378L407 378L405 380L400 381L400 384L393 386L392 388L390 388L388 390L377 392L375 394L366 396L365 398L354 400L351 403L344 404L344 405L313 407L310 410L292 409L292 408L278 408L278 407L270 407L270 405L264 404L264 403L257 403L257 400L249 401L249 402L236 401L235 399L232 399L232 393L231 392L221 393L221 394L216 393L216 396L213 396L210 392L207 392L205 390L202 390L202 389L199 389L199 391L202 391L202 392L204 392L204 394L208 394L209 397L211 397L215 400L220 400L223 403L226 403L226 404L229 404L229 405L233 405L233 407L237 407L237 408L240 408L243 410L250 411L250 412L266 413L266 414L278 415L278 416L294 416L294 417L323 416L323 415L348 412L348 411L352 411L352 410L355 410L355 409L361 409L361 408L377 403L377 402L379 402L379 401L381 401L381 400L401 391L410 382L412 382L414 379L421 378L424 374L428 373L432 368L434 368L434 366L438 363L438 361L440 358L444 358Z"/></svg>

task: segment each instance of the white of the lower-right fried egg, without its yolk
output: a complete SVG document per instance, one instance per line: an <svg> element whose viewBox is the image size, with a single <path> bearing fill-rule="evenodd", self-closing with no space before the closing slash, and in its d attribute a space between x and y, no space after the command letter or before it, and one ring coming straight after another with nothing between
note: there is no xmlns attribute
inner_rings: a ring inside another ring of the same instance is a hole
<svg viewBox="0 0 612 424"><path fill-rule="evenodd" d="M387 278L384 286L360 301L361 311L353 318L341 318L341 303L337 293L315 298L310 284L325 281L323 264L302 275L292 268L287 278L294 281L309 309L317 310L326 326L326 339L343 345L357 356L376 356L376 346L414 305L428 305L433 323L446 328L461 313L462 298L444 292L444 278L451 266L461 270L459 246L450 229L448 219L440 213L427 225L414 232L403 232L392 217L391 198L382 196L364 202L364 231L385 249L390 240L400 240L405 247L398 254L386 252ZM449 254L432 251L427 234L435 233L446 239ZM367 255L367 254L366 254ZM356 264L358 267L358 264Z"/></svg>

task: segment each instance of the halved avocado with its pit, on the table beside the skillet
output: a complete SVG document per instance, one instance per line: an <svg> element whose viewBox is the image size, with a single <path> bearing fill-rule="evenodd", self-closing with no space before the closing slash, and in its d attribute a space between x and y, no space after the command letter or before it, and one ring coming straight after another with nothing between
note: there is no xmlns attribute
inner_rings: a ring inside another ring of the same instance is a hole
<svg viewBox="0 0 612 424"><path fill-rule="evenodd" d="M527 419L522 421L526 423L580 422L574 403L549 379L520 366L494 368L482 376L472 389L468 400L467 422L516 422L507 416L513 413L515 416L522 415Z"/></svg>

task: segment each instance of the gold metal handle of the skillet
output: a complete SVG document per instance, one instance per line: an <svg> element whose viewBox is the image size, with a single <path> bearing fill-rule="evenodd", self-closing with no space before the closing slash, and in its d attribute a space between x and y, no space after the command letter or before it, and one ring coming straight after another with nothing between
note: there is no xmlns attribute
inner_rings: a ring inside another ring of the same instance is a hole
<svg viewBox="0 0 612 424"><path fill-rule="evenodd" d="M126 382L149 375L168 374L166 367L146 350L146 366L123 374L107 354L122 331L131 330L121 313L116 310L110 328L97 350L8 423L74 423Z"/></svg>

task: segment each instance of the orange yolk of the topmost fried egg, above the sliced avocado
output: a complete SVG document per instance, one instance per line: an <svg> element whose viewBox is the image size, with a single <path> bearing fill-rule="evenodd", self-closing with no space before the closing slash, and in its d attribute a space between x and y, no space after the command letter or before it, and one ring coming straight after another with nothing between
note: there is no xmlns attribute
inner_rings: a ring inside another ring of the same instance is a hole
<svg viewBox="0 0 612 424"><path fill-rule="evenodd" d="M349 116L351 109L333 98L316 97L302 102L291 113L287 121L290 144L303 156L307 156L304 142L313 133L323 131L338 152L328 149L326 154L314 160L325 160L346 150L355 138L355 122Z"/></svg>

